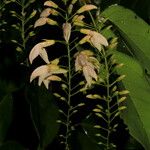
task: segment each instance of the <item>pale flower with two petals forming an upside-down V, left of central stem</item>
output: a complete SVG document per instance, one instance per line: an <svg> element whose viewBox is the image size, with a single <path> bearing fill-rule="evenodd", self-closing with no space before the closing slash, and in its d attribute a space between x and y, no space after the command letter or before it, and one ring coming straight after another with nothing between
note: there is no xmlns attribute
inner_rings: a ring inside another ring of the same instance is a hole
<svg viewBox="0 0 150 150"><path fill-rule="evenodd" d="M55 41L54 40L45 40L44 42L40 42L38 44L36 44L30 54L29 54L29 61L30 63L32 64L33 60L38 56L40 55L41 58L47 63L49 64L49 60L48 60L48 55L47 55L47 52L45 50L45 47L48 47L48 46L51 46L55 44Z"/></svg>

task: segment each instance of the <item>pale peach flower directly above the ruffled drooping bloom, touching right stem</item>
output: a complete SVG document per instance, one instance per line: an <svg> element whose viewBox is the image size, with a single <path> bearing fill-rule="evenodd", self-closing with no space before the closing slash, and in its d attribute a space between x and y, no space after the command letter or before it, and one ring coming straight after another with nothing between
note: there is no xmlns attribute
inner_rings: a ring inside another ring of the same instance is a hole
<svg viewBox="0 0 150 150"><path fill-rule="evenodd" d="M101 45L108 46L108 41L102 34L89 29L81 29L80 32L87 35L83 39L81 39L79 44L84 44L85 42L89 42L99 51L101 51Z"/></svg>

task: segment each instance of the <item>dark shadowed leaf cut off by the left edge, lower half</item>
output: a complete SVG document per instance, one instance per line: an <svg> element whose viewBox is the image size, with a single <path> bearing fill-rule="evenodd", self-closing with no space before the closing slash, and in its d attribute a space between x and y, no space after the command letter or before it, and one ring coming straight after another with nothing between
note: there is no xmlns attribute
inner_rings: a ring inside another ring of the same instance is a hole
<svg viewBox="0 0 150 150"><path fill-rule="evenodd" d="M12 96L5 95L0 101L0 144L7 135L7 130L12 121Z"/></svg>

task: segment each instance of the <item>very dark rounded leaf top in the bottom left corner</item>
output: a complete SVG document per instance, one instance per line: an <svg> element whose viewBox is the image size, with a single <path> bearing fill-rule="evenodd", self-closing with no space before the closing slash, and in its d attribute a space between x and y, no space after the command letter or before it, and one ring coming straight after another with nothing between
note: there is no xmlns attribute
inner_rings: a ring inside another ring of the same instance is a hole
<svg viewBox="0 0 150 150"><path fill-rule="evenodd" d="M25 148L17 142L10 141L0 146L0 150L25 150Z"/></svg>

